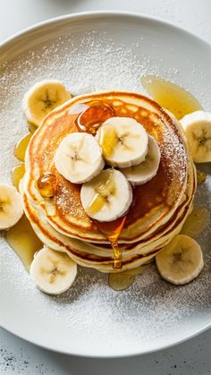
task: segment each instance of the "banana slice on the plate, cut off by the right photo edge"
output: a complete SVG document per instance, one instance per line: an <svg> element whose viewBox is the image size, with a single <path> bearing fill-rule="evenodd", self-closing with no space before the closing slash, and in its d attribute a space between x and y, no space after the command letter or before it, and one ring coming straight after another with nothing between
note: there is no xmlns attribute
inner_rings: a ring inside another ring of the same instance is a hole
<svg viewBox="0 0 211 375"><path fill-rule="evenodd" d="M192 112L181 118L190 153L196 163L211 161L211 113Z"/></svg>

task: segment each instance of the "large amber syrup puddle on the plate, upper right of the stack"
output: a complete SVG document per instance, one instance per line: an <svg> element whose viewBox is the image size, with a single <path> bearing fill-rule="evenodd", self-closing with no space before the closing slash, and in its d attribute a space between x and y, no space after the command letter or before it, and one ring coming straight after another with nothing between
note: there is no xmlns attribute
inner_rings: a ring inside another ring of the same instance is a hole
<svg viewBox="0 0 211 375"><path fill-rule="evenodd" d="M198 100L186 89L159 78L156 75L144 75L141 84L148 94L161 106L168 109L180 120L184 115L203 109Z"/></svg>

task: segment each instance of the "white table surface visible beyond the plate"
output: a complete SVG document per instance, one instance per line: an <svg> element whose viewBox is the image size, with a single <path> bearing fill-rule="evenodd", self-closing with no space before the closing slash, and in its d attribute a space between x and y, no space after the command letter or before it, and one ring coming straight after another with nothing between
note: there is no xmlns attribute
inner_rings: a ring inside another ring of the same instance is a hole
<svg viewBox="0 0 211 375"><path fill-rule="evenodd" d="M75 12L116 10L156 16L190 30L211 43L210 0L0 0L0 5L0 42L15 32L48 18ZM14 337L0 328L0 374L207 375L210 373L211 330L156 354L96 360L55 354Z"/></svg>

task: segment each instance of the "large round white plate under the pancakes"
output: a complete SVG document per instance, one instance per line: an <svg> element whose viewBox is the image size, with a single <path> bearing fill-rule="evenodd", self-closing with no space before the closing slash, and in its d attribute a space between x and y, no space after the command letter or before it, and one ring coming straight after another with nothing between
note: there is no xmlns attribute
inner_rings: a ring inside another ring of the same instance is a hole
<svg viewBox="0 0 211 375"><path fill-rule="evenodd" d="M190 89L207 107L210 61L211 47L204 41L134 14L76 14L11 38L0 47L0 180L10 180L13 145L26 132L21 98L35 81L60 79L73 94L112 88L141 92L139 76L150 72ZM209 186L207 178L198 193L201 205L210 205ZM36 290L2 239L0 322L17 336L67 354L124 356L179 343L210 327L210 239L208 231L199 239L206 268L188 286L165 283L153 268L118 293L107 286L105 275L80 268L72 289L57 298Z"/></svg>

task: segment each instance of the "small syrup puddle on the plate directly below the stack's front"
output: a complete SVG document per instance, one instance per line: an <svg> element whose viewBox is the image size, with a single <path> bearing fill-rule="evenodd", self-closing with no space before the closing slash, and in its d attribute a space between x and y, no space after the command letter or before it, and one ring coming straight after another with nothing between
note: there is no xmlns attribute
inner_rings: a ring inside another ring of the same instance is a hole
<svg viewBox="0 0 211 375"><path fill-rule="evenodd" d="M150 264L144 264L142 266L139 266L138 268L129 269L127 271L119 273L109 274L108 284L112 289L116 291L128 289L135 280L135 277L142 274L149 266Z"/></svg>

